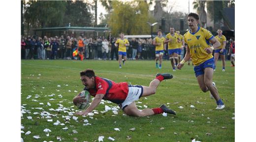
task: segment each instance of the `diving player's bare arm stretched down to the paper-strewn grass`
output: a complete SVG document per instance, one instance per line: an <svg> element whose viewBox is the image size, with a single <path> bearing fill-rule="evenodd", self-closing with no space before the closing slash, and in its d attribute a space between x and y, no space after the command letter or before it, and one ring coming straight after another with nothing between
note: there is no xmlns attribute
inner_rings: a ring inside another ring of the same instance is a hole
<svg viewBox="0 0 256 142"><path fill-rule="evenodd" d="M104 94L97 94L92 101L91 105L84 111L80 113L76 113L76 115L88 115L90 112L92 112L100 103L101 99L104 97Z"/></svg>

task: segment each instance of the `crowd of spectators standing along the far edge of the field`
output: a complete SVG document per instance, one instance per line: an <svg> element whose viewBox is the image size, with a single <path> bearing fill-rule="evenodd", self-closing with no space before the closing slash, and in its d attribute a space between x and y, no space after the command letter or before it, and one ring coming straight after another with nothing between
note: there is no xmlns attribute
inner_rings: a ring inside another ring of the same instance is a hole
<svg viewBox="0 0 256 142"><path fill-rule="evenodd" d="M111 33L97 38L82 37L83 58L97 60L118 60L118 47L115 42L118 38ZM151 38L129 38L130 46L127 47L127 58L130 60L155 59L155 46ZM22 36L21 58L22 59L78 59L73 57L72 52L78 47L79 38L64 37L38 37ZM167 53L167 52L166 52Z"/></svg>

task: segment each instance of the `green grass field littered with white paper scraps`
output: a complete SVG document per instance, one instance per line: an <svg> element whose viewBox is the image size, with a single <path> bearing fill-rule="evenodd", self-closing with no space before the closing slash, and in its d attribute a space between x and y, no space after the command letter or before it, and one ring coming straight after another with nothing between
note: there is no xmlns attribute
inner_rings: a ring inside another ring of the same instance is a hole
<svg viewBox="0 0 256 142"><path fill-rule="evenodd" d="M192 139L201 142L234 142L235 120L232 118L235 117L235 70L229 67L228 61L226 64L226 71L222 72L221 62L218 62L213 78L226 107L224 110L215 110L215 100L209 97L209 92L203 93L199 89L193 67L187 64L180 71L172 71L169 61L163 62L162 69L156 69L153 60L128 61L119 69L117 61L22 60L21 124L24 133L21 133L21 137L24 142L57 142L57 137L63 142L98 142L99 136L105 137L104 142L110 142L108 137L114 138L115 142L191 142ZM73 105L72 98L78 94L75 91L80 92L84 88L79 71L86 68L94 69L97 76L115 82L144 86L149 85L157 72L172 73L173 79L162 81L155 95L142 97L139 100L142 103L136 104L142 106L139 109L143 109L144 105L155 108L165 103L177 115L134 118L124 116L119 110L118 115L112 116L112 111L103 114L100 111L105 110L105 105L117 105L105 102L96 108L98 114L93 119L75 116L78 117L75 121L72 114L79 110ZM191 105L195 108L191 108ZM180 109L180 106L184 108ZM58 108L62 110L57 111ZM44 111L50 113L51 118L42 117L40 114ZM27 118L29 116L32 119ZM66 119L67 116L71 117L70 120ZM84 126L84 119L92 125ZM53 125L57 120L64 125ZM64 130L65 127L68 129ZM51 130L49 137L43 131L45 128ZM129 130L131 128L135 130ZM31 134L25 135L28 131ZM40 139L33 138L35 135Z"/></svg>

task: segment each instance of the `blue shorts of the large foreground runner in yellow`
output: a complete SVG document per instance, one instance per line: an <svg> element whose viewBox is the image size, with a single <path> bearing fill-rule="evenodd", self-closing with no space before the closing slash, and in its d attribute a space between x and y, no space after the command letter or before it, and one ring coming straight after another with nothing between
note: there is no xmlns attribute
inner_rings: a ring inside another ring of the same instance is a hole
<svg viewBox="0 0 256 142"><path fill-rule="evenodd" d="M214 58L206 60L205 62L201 63L199 66L194 66L195 76L197 77L198 75L204 74L205 68L215 69Z"/></svg>

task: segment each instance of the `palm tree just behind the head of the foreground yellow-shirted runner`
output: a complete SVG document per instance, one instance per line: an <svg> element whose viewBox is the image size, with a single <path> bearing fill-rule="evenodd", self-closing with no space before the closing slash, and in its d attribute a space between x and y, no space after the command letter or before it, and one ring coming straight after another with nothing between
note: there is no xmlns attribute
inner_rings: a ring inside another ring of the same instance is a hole
<svg viewBox="0 0 256 142"><path fill-rule="evenodd" d="M196 9L198 15L199 15L199 20L201 23L202 27L206 27L206 22L207 22L207 15L206 15L206 11L205 11L205 4L206 1L203 0L196 0L193 1L193 8Z"/></svg>

